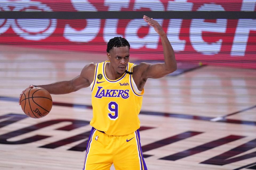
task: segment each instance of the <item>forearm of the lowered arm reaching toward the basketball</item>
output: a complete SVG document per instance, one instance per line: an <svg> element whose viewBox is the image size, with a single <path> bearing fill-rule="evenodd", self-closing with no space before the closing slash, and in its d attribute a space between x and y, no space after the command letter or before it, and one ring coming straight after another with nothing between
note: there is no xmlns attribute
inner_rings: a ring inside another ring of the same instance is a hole
<svg viewBox="0 0 256 170"><path fill-rule="evenodd" d="M37 85L37 87L42 87L45 90L47 90L50 94L55 95L68 94L76 91L76 89L72 86L71 81L61 81L52 84Z"/></svg>

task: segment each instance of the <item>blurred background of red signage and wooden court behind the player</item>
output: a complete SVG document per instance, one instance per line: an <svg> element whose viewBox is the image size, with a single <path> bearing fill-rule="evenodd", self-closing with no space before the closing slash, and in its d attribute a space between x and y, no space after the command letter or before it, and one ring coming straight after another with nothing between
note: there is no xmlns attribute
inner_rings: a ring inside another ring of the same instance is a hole
<svg viewBox="0 0 256 170"><path fill-rule="evenodd" d="M90 90L52 95L51 113L37 120L22 112L19 94L107 60L115 36L129 41L130 62L163 62L161 40L143 15L162 25L178 65L145 86L139 116L148 169L256 169L255 6L255 0L0 0L0 169L82 169Z"/></svg>

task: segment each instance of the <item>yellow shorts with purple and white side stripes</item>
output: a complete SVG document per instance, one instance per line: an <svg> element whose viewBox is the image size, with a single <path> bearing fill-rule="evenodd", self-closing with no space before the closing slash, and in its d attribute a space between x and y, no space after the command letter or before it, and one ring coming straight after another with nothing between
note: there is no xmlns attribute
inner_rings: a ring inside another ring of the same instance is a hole
<svg viewBox="0 0 256 170"><path fill-rule="evenodd" d="M139 130L124 136L110 136L95 128L88 139L83 170L147 170Z"/></svg>

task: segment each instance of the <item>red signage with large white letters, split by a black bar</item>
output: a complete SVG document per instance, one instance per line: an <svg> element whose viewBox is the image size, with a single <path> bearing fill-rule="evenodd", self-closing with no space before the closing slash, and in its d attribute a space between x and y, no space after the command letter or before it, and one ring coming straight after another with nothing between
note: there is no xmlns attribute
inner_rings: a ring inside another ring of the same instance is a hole
<svg viewBox="0 0 256 170"><path fill-rule="evenodd" d="M256 3L245 0L30 2L6 1L0 4L0 11L255 11ZM165 30L177 60L256 69L255 19L156 20ZM106 53L107 42L115 36L129 41L131 57L163 59L160 37L143 19L0 19L0 44Z"/></svg>

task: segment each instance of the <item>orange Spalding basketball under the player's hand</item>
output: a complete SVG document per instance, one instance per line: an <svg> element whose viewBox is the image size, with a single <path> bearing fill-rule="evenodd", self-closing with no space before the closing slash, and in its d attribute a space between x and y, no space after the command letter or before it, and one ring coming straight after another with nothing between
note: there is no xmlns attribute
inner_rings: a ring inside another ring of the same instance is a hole
<svg viewBox="0 0 256 170"><path fill-rule="evenodd" d="M53 100L50 93L41 87L30 88L21 96L21 108L31 118L45 117L52 106Z"/></svg>

